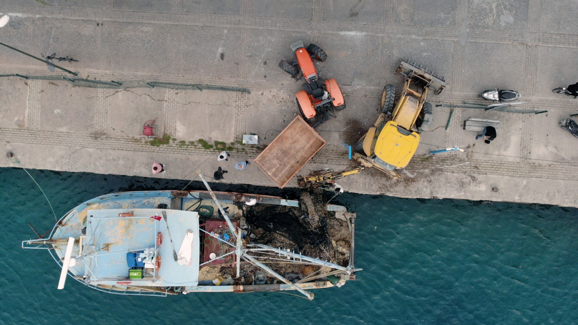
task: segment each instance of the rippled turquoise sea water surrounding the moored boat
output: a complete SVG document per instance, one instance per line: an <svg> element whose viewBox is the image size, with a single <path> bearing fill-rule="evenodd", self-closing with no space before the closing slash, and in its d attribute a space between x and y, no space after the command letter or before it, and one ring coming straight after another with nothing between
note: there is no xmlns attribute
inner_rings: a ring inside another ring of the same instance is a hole
<svg viewBox="0 0 578 325"><path fill-rule="evenodd" d="M29 173L58 218L104 193L188 182ZM0 169L0 182L0 324L578 323L576 209L344 193L334 202L357 212L357 281L314 290L313 301L282 293L155 298L101 293L70 278L57 290L60 270L47 251L20 248L35 238L28 222L41 233L53 227L50 206L23 169Z"/></svg>

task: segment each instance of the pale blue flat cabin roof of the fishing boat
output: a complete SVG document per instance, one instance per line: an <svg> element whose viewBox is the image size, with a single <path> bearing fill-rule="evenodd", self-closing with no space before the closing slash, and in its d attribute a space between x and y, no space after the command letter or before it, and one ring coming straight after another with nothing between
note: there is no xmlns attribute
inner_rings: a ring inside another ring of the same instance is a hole
<svg viewBox="0 0 578 325"><path fill-rule="evenodd" d="M166 222L162 217L163 211ZM151 218L153 216L159 216L160 220ZM193 238L190 264L180 265L173 258L171 238L174 251L178 253L188 231L192 232ZM163 238L160 246L157 245L158 232L162 233ZM86 264L85 276L93 285L131 282L134 286L196 286L199 247L197 212L167 209L88 210L82 254ZM129 279L127 253L146 249L156 253L153 263L145 265L143 274L146 275L142 279ZM157 254L161 260L158 271L151 267L157 265Z"/></svg>

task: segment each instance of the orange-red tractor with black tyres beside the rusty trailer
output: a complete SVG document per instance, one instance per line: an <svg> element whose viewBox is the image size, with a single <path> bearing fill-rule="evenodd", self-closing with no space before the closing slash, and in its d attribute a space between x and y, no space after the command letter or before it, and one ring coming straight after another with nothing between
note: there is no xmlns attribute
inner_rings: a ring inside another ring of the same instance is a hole
<svg viewBox="0 0 578 325"><path fill-rule="evenodd" d="M303 84L303 90L297 92L295 96L299 112L310 126L316 128L331 116L335 118L335 111L345 108L343 94L335 79L325 79L322 82L317 75L312 59L325 61L327 54L322 49L315 44L309 44L305 49L303 42L299 41L291 44L291 50L295 52L297 59L291 62L281 60L279 67L297 80L303 78L307 82ZM299 72L303 75L300 78Z"/></svg>

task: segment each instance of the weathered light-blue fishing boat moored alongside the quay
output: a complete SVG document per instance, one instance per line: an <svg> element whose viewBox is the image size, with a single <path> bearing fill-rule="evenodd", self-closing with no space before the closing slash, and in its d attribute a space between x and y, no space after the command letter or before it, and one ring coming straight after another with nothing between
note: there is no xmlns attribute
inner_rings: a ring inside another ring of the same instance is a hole
<svg viewBox="0 0 578 325"><path fill-rule="evenodd" d="M341 287L355 279L355 213L316 192L299 200L208 191L110 193L66 213L43 238L66 275L114 294Z"/></svg>

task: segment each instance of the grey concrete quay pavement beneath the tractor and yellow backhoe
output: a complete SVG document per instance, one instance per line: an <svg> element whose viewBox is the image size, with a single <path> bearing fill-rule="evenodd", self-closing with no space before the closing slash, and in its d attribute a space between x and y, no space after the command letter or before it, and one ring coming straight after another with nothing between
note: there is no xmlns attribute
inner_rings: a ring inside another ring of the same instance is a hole
<svg viewBox="0 0 578 325"><path fill-rule="evenodd" d="M318 127L328 143L300 174L352 163L343 144L375 121L384 85L399 92L393 71L405 57L449 83L429 96L432 131L421 134L402 180L369 169L340 180L346 191L578 207L578 139L558 126L578 113L578 100L551 92L578 81L575 0L2 0L0 12L10 16L0 42L73 57L79 62L60 64L81 78L250 90L108 89L4 76L0 140L14 158L2 155L2 167L152 177L157 161L166 173L155 177L196 180L196 168L212 176L221 166L229 173L220 182L274 186L254 164L234 165L255 158L298 113L301 82L277 63L292 59L289 46L301 40L327 52L317 68L338 81L347 109ZM0 75L70 76L8 48L0 53ZM436 104L481 103L477 94L497 87L520 92L520 108L548 112L455 108L446 129L450 108ZM499 120L496 140L476 141L463 129L470 117ZM139 136L154 118L168 144ZM249 133L261 144L240 145ZM228 162L199 139L231 147ZM454 146L464 152L427 155Z"/></svg>

